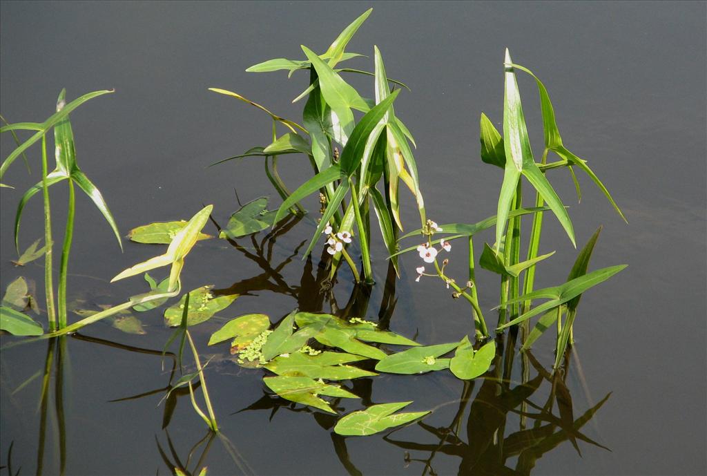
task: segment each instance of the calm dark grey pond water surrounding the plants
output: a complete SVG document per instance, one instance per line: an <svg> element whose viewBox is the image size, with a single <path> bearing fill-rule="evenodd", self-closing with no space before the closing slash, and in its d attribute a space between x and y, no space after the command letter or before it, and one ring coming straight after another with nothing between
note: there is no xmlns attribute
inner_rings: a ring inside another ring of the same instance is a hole
<svg viewBox="0 0 707 476"><path fill-rule="evenodd" d="M214 204L214 219L225 222L238 208L234 189L243 201L274 193L261 161L205 167L266 144L269 120L206 88L238 91L299 120L301 104L290 102L305 88L306 74L287 80L282 72L255 75L245 68L301 57L300 44L323 51L369 6L373 14L348 50L372 56L378 45L388 75L412 90L403 91L395 107L418 144L431 218L473 223L495 213L501 171L479 160L478 120L483 111L501 121L505 47L544 81L566 145L590 161L628 217L626 225L584 177L577 204L568 175L553 173L556 190L571 204L578 243L604 225L592 268L629 264L584 296L564 376L575 419L585 417L582 433L609 451L578 439L580 457L568 434L554 426L554 439L536 447L532 458L518 457L529 441L549 435L559 415L557 408L543 408L552 388L543 377L554 359L550 337L525 362L510 352L508 335L499 341L506 350L491 372L508 379L503 385L490 378L465 385L448 371L349 383L364 405L414 400L410 410L434 410L392 434L343 438L333 433L332 416L271 397L263 371L238 367L224 347L206 347L225 320L257 312L275 321L299 307L380 319L423 344L469 332L464 303L432 280L414 282L416 257L404 258L401 278L386 284L378 244L373 289L354 289L350 274L341 272L334 291L322 293L320 251L312 261L300 260L301 244L313 232L305 218L274 238L260 233L238 245L200 242L187 260L185 289L214 284L241 294L218 318L193 328L202 357L214 356L206 378L223 438L209 439L185 393L171 402L176 406L164 421L169 412L158 403L173 360L160 364L170 330L153 310L139 315L144 335L98 323L61 344L1 352L0 465L12 445L13 470L21 468L20 474L164 475L187 461L189 471L208 465L209 475L510 475L516 468L534 475L705 474L705 3L5 1L0 109L11 122L40 121L61 88L69 98L115 88L71 119L78 161L103 191L122 233L151 221L187 219L203 204ZM372 69L371 63L355 64ZM372 95L368 78L354 83ZM527 77L519 76L519 83L537 151L537 92ZM7 135L3 158L13 148ZM18 191L37 180L36 148L30 161L33 175L16 163L4 182L17 190L0 192L2 289L19 275L42 288L40 265L10 263ZM308 177L301 156L281 164L290 185ZM52 194L63 223L66 192L58 186ZM315 197L306 205L318 207ZM403 222L415 224L409 200L404 209ZM70 299L96 306L144 291L139 278L107 281L163 248L126 241L121 254L83 195L77 195L76 213ZM554 219L545 223L541 250L557 253L539 268L537 287L565 279L576 253ZM215 228L209 224L206 231ZM60 236L58 227L55 233ZM22 246L40 236L41 200L35 198L25 211ZM483 239L493 241L491 233ZM452 250L452 274L462 274L462 248ZM481 305L489 314L496 286L495 275L481 274ZM13 340L1 338L2 344ZM52 392L42 407L42 378L36 377L48 349L62 368L53 381L61 398ZM524 364L531 381L522 387ZM531 403L520 405L524 399ZM361 403L336 406L343 413ZM520 431L522 423L527 431Z"/></svg>

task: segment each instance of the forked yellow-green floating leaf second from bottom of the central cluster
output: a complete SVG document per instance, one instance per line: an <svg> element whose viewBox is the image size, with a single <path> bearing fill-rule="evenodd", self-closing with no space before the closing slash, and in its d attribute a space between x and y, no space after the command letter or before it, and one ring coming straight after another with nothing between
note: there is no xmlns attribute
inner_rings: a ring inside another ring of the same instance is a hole
<svg viewBox="0 0 707 476"><path fill-rule="evenodd" d="M378 375L354 366L349 362L365 360L366 357L343 354L341 352L322 352L322 354L308 355L295 352L288 356L279 356L265 365L269 371L280 376L325 378L327 380L348 380L351 378Z"/></svg>

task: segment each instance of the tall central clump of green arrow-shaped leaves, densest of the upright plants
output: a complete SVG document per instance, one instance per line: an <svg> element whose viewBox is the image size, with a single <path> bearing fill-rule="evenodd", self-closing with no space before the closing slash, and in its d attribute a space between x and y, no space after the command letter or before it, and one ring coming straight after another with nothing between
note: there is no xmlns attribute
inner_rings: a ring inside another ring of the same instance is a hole
<svg viewBox="0 0 707 476"><path fill-rule="evenodd" d="M398 204L399 182L402 181L407 185L416 197L422 223L425 221L425 208L417 168L408 143L411 141L414 144L414 139L407 127L395 116L392 108L399 90L392 91L390 83L401 86L404 84L387 78L378 47L374 47L373 52L373 73L351 68L336 68L339 62L361 56L361 54L346 53L344 50L356 30L368 18L370 11L369 9L356 18L332 42L327 51L320 55L303 46L306 59L271 59L250 66L246 70L250 72L286 70L289 71L290 76L300 69L308 70L309 86L293 101L308 97L303 110L303 126L275 115L264 106L238 93L223 88L210 88L211 91L243 100L267 112L272 120L271 144L265 147L253 147L244 154L218 163L250 156L264 157L268 178L284 199L274 216L274 223L288 212L302 213L300 200L319 192L322 216L305 250L305 256L312 251L323 234L327 240L327 250L332 255L332 277L343 257L351 268L354 279L368 283L373 282L370 257L370 208L373 207L378 218L382 240L389 255L395 254L397 236L395 227L402 230ZM363 98L353 86L344 81L341 73L373 76L375 99ZM358 122L355 120L354 110L364 114ZM277 137L278 124L283 125L290 132ZM309 137L310 141L307 141L306 137ZM341 147L340 153L339 147ZM288 191L276 170L277 158L289 153L303 153L308 156L310 166L315 173L314 177L300 185L294 192ZM377 188L380 182L384 193ZM350 198L347 200L348 195ZM354 233L354 225L356 233ZM324 233L325 231L327 233ZM347 251L351 236L358 241L361 250L362 276ZM393 258L393 262L397 268L397 258Z"/></svg>

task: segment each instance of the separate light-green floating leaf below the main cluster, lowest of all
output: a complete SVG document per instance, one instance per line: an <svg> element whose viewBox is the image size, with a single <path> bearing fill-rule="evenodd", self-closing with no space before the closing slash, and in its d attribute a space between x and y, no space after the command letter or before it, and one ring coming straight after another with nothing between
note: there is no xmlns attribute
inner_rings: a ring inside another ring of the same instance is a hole
<svg viewBox="0 0 707 476"><path fill-rule="evenodd" d="M412 402L382 403L372 405L366 410L345 415L334 426L334 432L344 436L366 436L378 433L393 426L400 426L424 417L426 412L395 413Z"/></svg>

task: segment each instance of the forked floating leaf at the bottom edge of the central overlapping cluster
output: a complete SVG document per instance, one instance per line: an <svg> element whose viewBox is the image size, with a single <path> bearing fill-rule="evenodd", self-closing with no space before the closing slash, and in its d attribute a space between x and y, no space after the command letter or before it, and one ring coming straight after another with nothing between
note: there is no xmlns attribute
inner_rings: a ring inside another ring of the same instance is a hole
<svg viewBox="0 0 707 476"><path fill-rule="evenodd" d="M267 387L287 400L309 405L329 413L336 413L329 403L318 395L329 397L358 398L348 390L309 377L265 377L263 382Z"/></svg>

